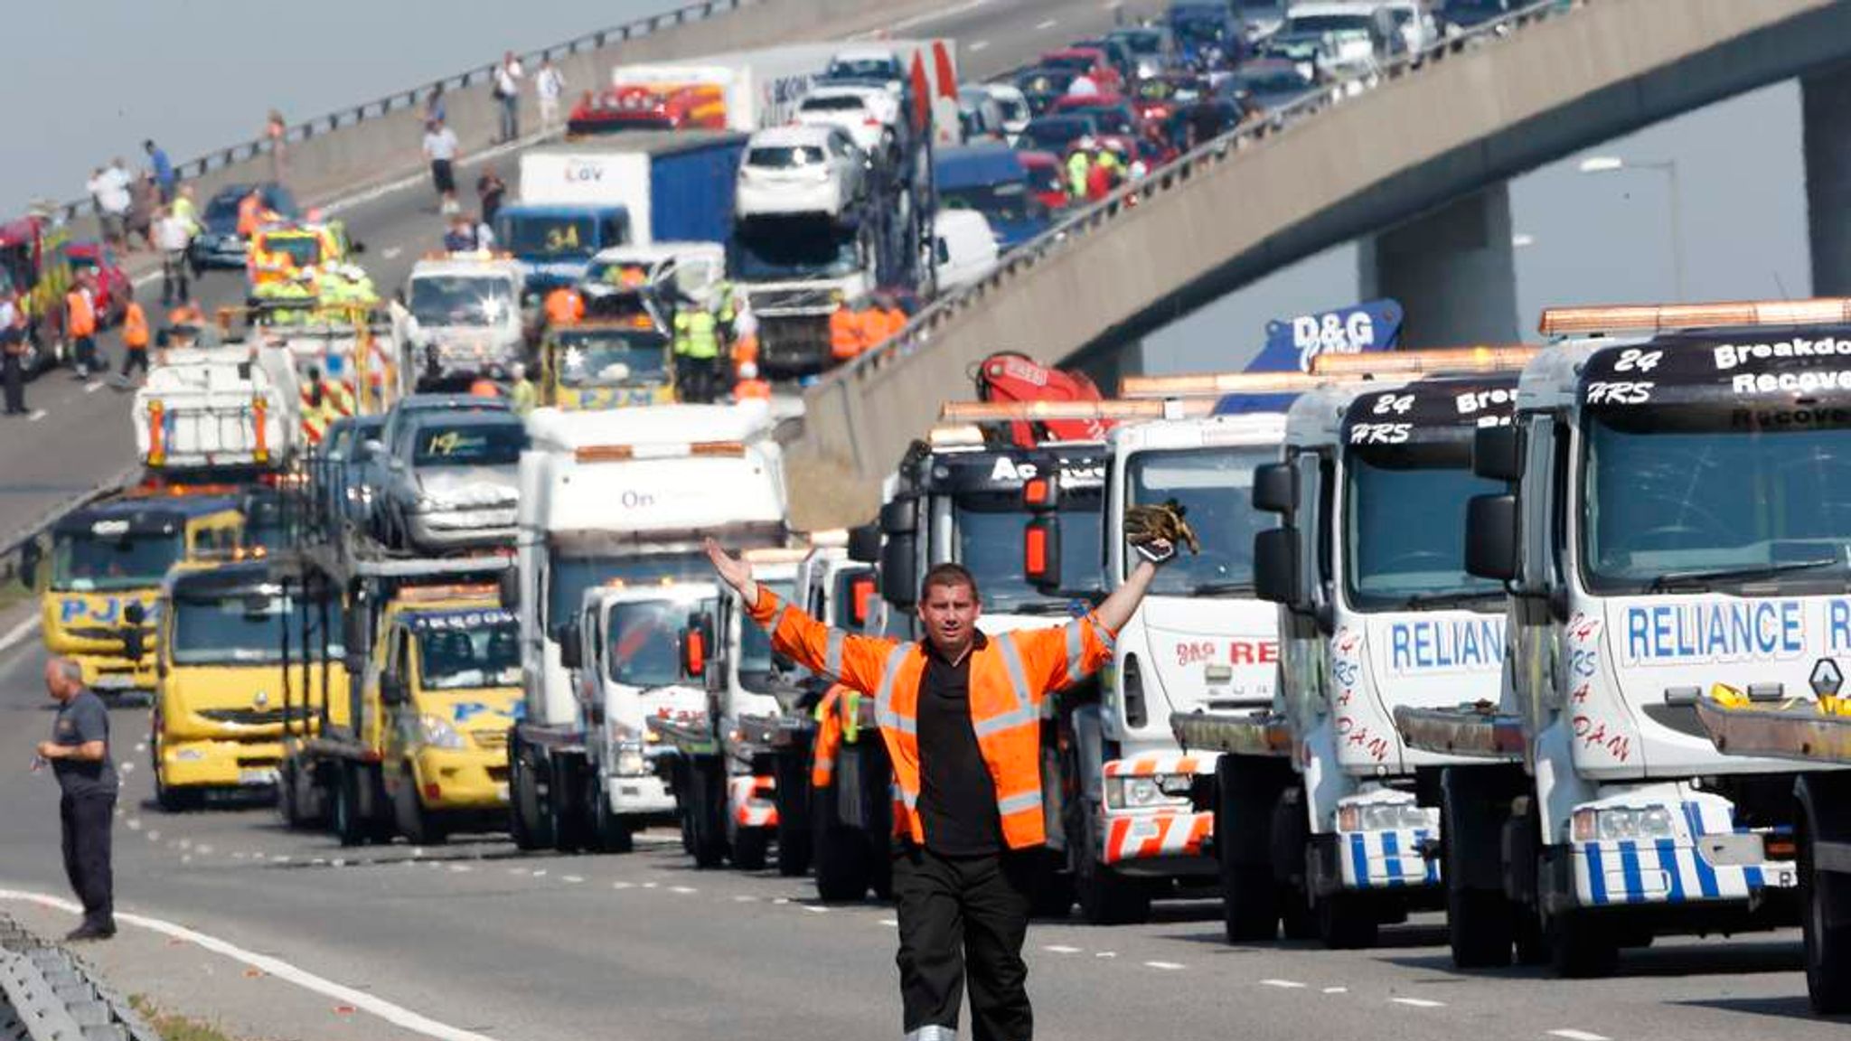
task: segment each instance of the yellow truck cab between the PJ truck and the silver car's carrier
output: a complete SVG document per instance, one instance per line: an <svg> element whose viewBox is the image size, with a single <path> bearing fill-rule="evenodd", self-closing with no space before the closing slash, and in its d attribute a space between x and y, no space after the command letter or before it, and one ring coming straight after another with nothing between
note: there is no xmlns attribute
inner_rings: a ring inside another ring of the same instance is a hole
<svg viewBox="0 0 1851 1041"><path fill-rule="evenodd" d="M148 737L161 809L207 791L274 791L287 730L348 721L346 674L291 667L291 648L342 654L339 591L304 587L291 554L181 563L161 587ZM317 682L311 682L317 680Z"/></svg>

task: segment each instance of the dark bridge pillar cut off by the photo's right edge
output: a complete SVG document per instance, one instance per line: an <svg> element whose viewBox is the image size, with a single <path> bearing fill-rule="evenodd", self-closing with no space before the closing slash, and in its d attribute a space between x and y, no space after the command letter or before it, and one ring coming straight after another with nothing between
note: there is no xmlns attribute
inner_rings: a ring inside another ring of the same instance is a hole
<svg viewBox="0 0 1851 1041"><path fill-rule="evenodd" d="M1812 295L1851 295L1851 63L1799 80Z"/></svg>

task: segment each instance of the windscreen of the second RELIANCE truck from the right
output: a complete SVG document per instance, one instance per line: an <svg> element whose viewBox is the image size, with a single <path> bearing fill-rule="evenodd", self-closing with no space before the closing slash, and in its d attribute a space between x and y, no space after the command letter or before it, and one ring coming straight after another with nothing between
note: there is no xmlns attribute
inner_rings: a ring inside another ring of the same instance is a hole
<svg viewBox="0 0 1851 1041"><path fill-rule="evenodd" d="M1344 476L1344 585L1360 611L1496 604L1466 574L1466 500L1503 485L1472 472L1470 432L1449 441L1351 446Z"/></svg>

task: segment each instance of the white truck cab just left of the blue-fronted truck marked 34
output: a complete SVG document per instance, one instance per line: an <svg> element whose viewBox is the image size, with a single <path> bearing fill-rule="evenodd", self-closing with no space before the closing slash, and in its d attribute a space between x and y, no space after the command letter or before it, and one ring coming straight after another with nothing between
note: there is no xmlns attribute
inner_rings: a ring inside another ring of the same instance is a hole
<svg viewBox="0 0 1851 1041"><path fill-rule="evenodd" d="M429 254L405 283L405 350L418 389L502 378L528 354L522 267L509 256Z"/></svg>

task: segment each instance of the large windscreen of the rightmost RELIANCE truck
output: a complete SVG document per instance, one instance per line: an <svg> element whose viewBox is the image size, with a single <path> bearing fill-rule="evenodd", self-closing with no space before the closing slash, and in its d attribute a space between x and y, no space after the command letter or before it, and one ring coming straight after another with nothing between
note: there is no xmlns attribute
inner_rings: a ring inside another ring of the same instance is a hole
<svg viewBox="0 0 1851 1041"><path fill-rule="evenodd" d="M1851 546L1851 408L1718 402L1592 411L1583 574L1596 593L1673 580L1827 580ZM1649 422L1646 422L1649 419Z"/></svg>

